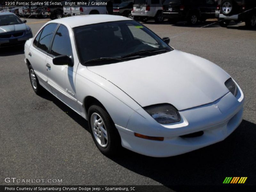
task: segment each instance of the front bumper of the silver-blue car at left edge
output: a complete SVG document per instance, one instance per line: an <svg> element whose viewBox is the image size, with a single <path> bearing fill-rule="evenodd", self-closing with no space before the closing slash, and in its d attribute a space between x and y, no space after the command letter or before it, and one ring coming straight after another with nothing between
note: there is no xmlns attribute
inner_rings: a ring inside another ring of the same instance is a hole
<svg viewBox="0 0 256 192"><path fill-rule="evenodd" d="M10 47L20 44L25 44L26 41L33 37L32 33L26 34L24 32L23 36L12 37L12 38L0 38L0 47Z"/></svg>

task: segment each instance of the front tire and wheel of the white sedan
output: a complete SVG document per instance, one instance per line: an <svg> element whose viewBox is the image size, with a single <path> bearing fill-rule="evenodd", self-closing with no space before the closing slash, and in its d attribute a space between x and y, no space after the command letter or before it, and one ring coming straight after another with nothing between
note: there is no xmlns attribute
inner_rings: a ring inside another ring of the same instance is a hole
<svg viewBox="0 0 256 192"><path fill-rule="evenodd" d="M98 105L88 109L88 123L92 139L104 155L114 155L121 147L120 135L108 112Z"/></svg>

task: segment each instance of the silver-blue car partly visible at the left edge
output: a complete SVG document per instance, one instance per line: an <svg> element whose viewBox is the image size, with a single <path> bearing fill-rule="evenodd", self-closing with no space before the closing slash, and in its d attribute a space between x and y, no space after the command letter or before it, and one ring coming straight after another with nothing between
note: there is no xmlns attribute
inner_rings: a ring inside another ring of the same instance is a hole
<svg viewBox="0 0 256 192"><path fill-rule="evenodd" d="M0 48L25 44L33 37L31 28L11 12L0 12Z"/></svg>

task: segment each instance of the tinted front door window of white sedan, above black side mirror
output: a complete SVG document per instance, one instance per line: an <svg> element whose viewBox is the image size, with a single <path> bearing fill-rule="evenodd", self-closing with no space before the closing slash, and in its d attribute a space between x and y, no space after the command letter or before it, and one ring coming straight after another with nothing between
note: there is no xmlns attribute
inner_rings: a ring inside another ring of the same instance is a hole
<svg viewBox="0 0 256 192"><path fill-rule="evenodd" d="M60 27L58 28L54 36L54 39L52 42L51 54L53 56L59 56L59 55L72 56L72 47L71 47L68 29L63 25L60 25Z"/></svg>

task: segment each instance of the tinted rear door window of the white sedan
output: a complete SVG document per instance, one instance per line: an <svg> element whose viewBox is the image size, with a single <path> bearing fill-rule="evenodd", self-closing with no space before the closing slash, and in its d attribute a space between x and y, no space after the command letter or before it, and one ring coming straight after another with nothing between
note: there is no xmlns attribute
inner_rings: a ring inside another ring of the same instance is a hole
<svg viewBox="0 0 256 192"><path fill-rule="evenodd" d="M43 29L43 32L40 36L39 42L38 42L38 47L44 51L48 51L51 39L52 39L52 34L57 27L56 23L50 23L46 25Z"/></svg>

